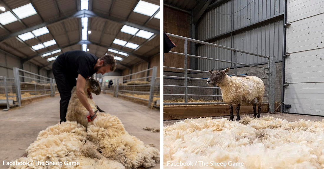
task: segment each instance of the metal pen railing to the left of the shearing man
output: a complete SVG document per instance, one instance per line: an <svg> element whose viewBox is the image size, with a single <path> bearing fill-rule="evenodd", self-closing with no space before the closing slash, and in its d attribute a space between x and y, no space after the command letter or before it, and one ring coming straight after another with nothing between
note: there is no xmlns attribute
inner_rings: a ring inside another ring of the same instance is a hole
<svg viewBox="0 0 324 169"><path fill-rule="evenodd" d="M22 99L54 95L52 78L38 75L26 70L13 68L17 95L17 104L21 106Z"/></svg>

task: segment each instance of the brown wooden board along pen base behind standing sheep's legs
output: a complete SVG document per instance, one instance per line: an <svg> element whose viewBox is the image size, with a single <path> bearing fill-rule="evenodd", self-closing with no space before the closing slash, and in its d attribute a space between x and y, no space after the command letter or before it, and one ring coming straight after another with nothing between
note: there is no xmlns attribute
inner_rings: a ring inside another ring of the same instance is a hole
<svg viewBox="0 0 324 169"><path fill-rule="evenodd" d="M279 104L275 104L278 107ZM257 105L258 109L258 105ZM269 104L262 104L261 113L266 113L269 110ZM171 119L186 119L212 116L230 115L229 106L227 104L219 105L173 105L163 106L163 120ZM236 118L235 105L233 104L233 113ZM242 104L240 114L253 114L251 104Z"/></svg>

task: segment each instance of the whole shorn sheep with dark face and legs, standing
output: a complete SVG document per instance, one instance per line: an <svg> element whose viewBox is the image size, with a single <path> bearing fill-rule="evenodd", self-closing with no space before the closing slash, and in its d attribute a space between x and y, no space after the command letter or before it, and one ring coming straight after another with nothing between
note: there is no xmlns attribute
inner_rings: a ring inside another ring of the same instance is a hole
<svg viewBox="0 0 324 169"><path fill-rule="evenodd" d="M234 119L233 104L236 104L236 120L240 120L240 106L242 103L251 103L253 105L253 117L260 118L262 99L264 96L264 83L256 76L237 77L226 75L229 67L225 70L211 71L207 80L208 85L217 85L221 88L222 98L226 104L229 104L231 116L229 120ZM254 99L258 99L258 116Z"/></svg>

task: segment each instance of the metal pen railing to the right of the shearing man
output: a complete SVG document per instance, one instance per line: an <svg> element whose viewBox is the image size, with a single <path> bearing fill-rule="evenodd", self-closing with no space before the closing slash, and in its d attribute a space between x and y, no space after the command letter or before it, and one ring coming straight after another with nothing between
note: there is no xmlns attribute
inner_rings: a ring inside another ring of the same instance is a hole
<svg viewBox="0 0 324 169"><path fill-rule="evenodd" d="M149 75L150 71L152 72L151 75ZM160 97L160 88L156 87L156 84L159 82L160 78L156 77L156 73L157 66L154 66L149 69L111 79L113 81L113 85L110 86L109 81L104 81L103 93L110 93L115 97L124 96L145 100L148 101L148 107L151 107L154 100L153 98Z"/></svg>

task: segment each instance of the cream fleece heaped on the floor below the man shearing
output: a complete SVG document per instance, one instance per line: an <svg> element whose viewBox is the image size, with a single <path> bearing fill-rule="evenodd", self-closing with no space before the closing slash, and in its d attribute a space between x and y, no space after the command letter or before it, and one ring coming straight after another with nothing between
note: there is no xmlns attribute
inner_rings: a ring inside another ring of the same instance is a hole
<svg viewBox="0 0 324 169"><path fill-rule="evenodd" d="M45 165L11 165L9 169L131 169L155 166L160 160L159 151L128 134L116 116L97 114L87 129L69 121L46 128L27 148L27 157L17 159L18 162L36 160ZM80 165L46 165L46 161L80 162Z"/></svg>

